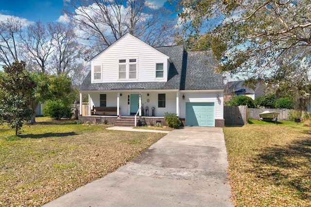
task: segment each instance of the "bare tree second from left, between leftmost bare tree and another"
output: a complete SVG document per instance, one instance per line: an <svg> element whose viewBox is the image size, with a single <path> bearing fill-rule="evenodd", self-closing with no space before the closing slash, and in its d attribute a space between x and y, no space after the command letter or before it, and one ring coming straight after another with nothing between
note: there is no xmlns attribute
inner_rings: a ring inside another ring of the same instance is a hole
<svg viewBox="0 0 311 207"><path fill-rule="evenodd" d="M40 21L27 27L25 33L20 35L23 43L23 52L29 54L29 61L37 64L42 72L47 68L48 58L53 52L52 35Z"/></svg>

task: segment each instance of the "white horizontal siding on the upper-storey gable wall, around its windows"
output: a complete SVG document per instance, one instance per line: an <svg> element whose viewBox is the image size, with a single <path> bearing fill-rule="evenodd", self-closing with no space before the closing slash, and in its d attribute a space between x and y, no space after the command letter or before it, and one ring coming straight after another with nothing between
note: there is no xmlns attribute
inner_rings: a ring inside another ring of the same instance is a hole
<svg viewBox="0 0 311 207"><path fill-rule="evenodd" d="M138 79L119 80L119 59L136 58L138 61ZM155 80L155 63L164 64L164 79ZM118 42L92 60L92 74L94 65L103 66L103 80L105 83L114 82L154 82L167 81L169 61L167 56L156 51L131 35L125 35ZM94 83L92 75L92 83Z"/></svg>

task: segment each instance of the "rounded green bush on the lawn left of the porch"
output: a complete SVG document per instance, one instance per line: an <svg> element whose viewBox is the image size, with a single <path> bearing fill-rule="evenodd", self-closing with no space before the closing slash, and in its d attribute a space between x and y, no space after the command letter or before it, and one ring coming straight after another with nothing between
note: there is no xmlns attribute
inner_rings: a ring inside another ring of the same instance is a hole
<svg viewBox="0 0 311 207"><path fill-rule="evenodd" d="M60 120L61 118L71 118L71 108L69 105L63 103L62 100L47 102L47 107L43 109L43 114L49 116L54 120Z"/></svg>

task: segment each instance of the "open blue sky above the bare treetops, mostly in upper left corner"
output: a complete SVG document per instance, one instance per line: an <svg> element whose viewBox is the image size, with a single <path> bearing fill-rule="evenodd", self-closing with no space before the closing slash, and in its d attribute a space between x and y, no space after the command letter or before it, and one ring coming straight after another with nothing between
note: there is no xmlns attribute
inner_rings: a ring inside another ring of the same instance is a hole
<svg viewBox="0 0 311 207"><path fill-rule="evenodd" d="M37 20L57 21L62 15L63 0L1 0L0 20L9 16L20 17L26 23ZM167 0L148 0L150 5L169 7ZM172 9L172 8L171 8Z"/></svg>

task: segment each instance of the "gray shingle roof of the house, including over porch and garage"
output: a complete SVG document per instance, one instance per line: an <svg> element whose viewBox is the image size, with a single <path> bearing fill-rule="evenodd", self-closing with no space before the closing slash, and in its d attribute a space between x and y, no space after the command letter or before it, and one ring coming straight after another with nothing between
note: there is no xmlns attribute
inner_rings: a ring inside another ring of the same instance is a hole
<svg viewBox="0 0 311 207"><path fill-rule="evenodd" d="M167 82L138 83L94 83L91 84L89 72L80 86L80 91L90 90L210 90L224 89L223 78L214 74L211 65L215 66L212 55L205 52L185 52L183 45L157 47L159 52L168 55L171 66ZM188 57L187 57L188 56ZM211 64L208 64L211 63Z"/></svg>

